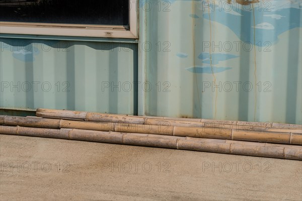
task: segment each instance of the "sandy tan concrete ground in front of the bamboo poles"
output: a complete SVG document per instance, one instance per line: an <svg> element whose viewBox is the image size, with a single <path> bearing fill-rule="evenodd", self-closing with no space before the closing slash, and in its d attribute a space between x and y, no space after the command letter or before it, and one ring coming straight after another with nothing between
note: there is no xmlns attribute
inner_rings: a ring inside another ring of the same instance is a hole
<svg viewBox="0 0 302 201"><path fill-rule="evenodd" d="M302 161L0 135L0 200L302 200Z"/></svg>

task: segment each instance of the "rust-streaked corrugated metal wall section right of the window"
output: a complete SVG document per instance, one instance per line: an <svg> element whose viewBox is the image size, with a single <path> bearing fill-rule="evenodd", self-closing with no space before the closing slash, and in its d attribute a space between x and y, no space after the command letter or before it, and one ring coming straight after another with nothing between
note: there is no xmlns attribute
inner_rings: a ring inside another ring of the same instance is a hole
<svg viewBox="0 0 302 201"><path fill-rule="evenodd" d="M155 89L141 91L139 114L301 124L301 9L142 1L139 75Z"/></svg>

